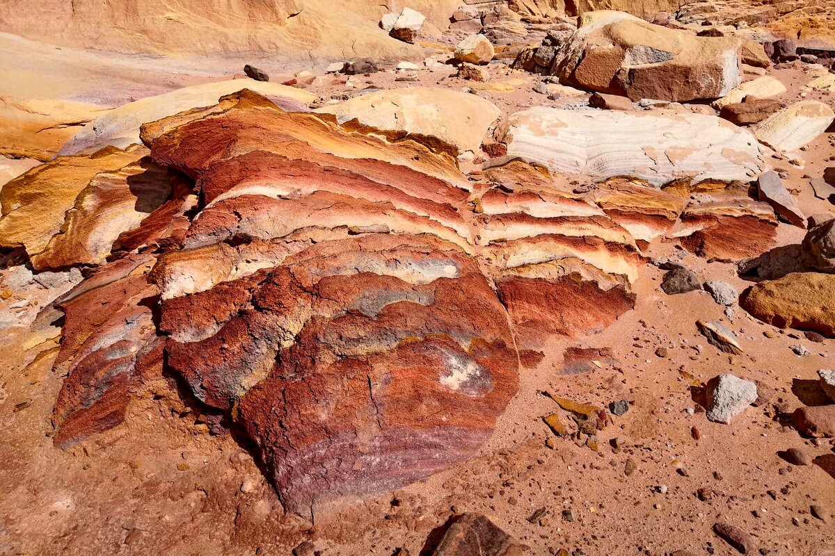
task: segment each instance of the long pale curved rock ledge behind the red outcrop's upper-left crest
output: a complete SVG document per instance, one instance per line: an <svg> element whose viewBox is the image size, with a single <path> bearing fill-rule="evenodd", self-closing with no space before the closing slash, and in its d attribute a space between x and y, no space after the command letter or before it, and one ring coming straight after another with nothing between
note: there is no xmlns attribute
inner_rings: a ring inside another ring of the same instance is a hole
<svg viewBox="0 0 835 556"><path fill-rule="evenodd" d="M212 106L218 98L241 89L250 89L268 98L282 98L302 105L317 99L315 94L303 89L253 79L230 79L194 85L105 111L64 143L58 154L93 153L107 146L127 148L131 144L141 143L139 128L143 123L173 116L190 108Z"/></svg>

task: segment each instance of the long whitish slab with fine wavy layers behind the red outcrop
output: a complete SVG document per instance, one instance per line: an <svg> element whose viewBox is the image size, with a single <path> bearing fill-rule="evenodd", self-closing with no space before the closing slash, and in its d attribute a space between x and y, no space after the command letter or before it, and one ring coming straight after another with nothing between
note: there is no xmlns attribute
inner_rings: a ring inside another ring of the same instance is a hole
<svg viewBox="0 0 835 556"><path fill-rule="evenodd" d="M497 129L508 153L555 173L630 176L660 186L676 178L750 181L766 163L751 133L696 113L529 108Z"/></svg>

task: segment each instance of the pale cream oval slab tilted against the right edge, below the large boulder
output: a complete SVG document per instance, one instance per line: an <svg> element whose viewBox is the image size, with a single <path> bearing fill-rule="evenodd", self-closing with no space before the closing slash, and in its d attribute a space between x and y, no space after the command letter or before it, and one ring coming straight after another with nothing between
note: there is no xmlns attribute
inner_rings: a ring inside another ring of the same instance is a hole
<svg viewBox="0 0 835 556"><path fill-rule="evenodd" d="M795 151L825 132L835 113L817 100L802 100L772 114L754 133L777 151Z"/></svg>

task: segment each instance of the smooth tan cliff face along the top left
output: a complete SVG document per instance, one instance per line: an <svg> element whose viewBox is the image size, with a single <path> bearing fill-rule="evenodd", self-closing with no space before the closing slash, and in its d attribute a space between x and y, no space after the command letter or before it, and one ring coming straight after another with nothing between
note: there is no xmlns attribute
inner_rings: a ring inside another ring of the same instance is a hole
<svg viewBox="0 0 835 556"><path fill-rule="evenodd" d="M277 53L296 58L406 57L414 46L391 38L378 23L384 2L352 0L21 0L0 4L6 33L76 48L124 53ZM457 0L415 0L427 16L423 33L447 27ZM393 5L392 5L393 8ZM397 8L402 8L400 3ZM32 18L31 13L43 13Z"/></svg>

